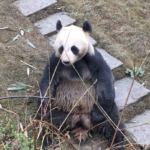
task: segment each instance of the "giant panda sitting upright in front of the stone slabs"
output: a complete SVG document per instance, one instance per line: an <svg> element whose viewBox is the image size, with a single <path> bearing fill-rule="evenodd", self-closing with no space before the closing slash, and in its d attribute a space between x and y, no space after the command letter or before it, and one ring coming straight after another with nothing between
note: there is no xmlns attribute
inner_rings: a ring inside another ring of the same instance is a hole
<svg viewBox="0 0 150 150"><path fill-rule="evenodd" d="M68 127L76 136L82 133L80 140L85 140L86 131L96 126L95 131L104 135L110 146L115 129L100 107L117 125L119 112L114 101L114 78L100 52L90 43L92 27L88 21L83 23L82 28L74 25L63 27L58 20L56 29L55 52L50 56L39 81L39 95L47 95L55 100L37 100L38 108L42 104L39 117L43 114L44 120L52 121L59 129L68 116L60 131ZM120 128L123 128L122 124ZM52 140L50 136L45 138L45 149L51 145ZM123 150L123 140L123 135L117 132L114 144L120 146L119 150Z"/></svg>

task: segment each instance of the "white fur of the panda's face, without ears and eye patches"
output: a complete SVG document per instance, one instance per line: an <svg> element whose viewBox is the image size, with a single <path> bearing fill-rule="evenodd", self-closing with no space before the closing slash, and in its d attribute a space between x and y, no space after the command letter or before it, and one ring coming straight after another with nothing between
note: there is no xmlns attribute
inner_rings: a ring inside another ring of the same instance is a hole
<svg viewBox="0 0 150 150"><path fill-rule="evenodd" d="M61 54L58 49L63 45L64 50ZM71 47L76 46L79 49L79 53L74 55L71 51ZM86 53L94 55L94 48L89 40L89 34L84 32L82 28L71 25L69 27L63 27L57 35L56 41L54 43L54 49L56 56L61 56L61 61L69 61L71 64L80 60Z"/></svg>

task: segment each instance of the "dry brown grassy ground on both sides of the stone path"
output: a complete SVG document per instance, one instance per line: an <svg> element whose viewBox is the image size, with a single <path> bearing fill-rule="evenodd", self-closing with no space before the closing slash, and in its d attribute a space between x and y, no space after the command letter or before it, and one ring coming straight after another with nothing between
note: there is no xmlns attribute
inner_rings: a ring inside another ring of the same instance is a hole
<svg viewBox="0 0 150 150"><path fill-rule="evenodd" d="M58 0L58 3L30 17L24 17L13 5L14 0L0 1L0 97L6 96L6 89L17 82L33 86L27 90L9 92L9 95L25 95L34 93L38 86L43 68L53 48L49 46L46 37L43 37L32 23L47 17L57 8L65 6L64 11L77 20L76 25L82 26L84 20L89 20L93 27L91 36L97 40L98 46L106 49L114 57L121 60L123 67L115 69L115 79L125 76L125 68L138 66L140 57L144 59L150 52L150 43L146 51L144 46L150 36L150 2L149 0ZM32 23L31 23L32 22ZM13 41L20 33L19 29L32 30ZM26 39L32 42L36 49L30 47ZM35 66L27 75L27 66L20 60ZM150 89L150 55L144 62L145 75L137 80L145 83ZM26 126L30 115L36 112L36 103L30 99L23 105L24 99L0 101L3 107L12 111L19 111L20 121ZM23 105L23 107L22 107ZM26 106L26 107L24 107ZM150 109L150 96L141 99L139 103L129 106L124 115L124 121Z"/></svg>

